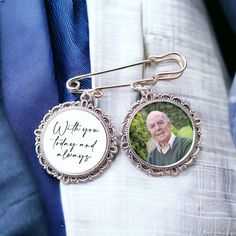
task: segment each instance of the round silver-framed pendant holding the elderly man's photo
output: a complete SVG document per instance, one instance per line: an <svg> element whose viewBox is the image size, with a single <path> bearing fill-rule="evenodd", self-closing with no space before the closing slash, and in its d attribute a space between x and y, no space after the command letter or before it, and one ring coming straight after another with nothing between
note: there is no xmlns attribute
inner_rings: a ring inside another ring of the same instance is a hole
<svg viewBox="0 0 236 236"><path fill-rule="evenodd" d="M182 99L141 91L122 126L121 146L132 163L153 176L175 176L200 150L200 119Z"/></svg>

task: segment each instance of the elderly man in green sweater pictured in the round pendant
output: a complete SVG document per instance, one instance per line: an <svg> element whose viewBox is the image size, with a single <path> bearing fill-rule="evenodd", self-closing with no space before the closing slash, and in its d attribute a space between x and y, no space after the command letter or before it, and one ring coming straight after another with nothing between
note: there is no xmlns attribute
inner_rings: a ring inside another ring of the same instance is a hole
<svg viewBox="0 0 236 236"><path fill-rule="evenodd" d="M175 136L171 132L170 119L164 112L150 112L146 124L156 144L155 148L148 153L148 163L158 166L171 165L188 153L192 140Z"/></svg>

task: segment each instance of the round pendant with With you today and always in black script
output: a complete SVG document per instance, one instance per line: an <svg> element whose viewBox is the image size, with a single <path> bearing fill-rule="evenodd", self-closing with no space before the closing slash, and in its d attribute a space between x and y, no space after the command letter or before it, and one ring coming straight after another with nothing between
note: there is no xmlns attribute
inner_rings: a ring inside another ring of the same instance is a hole
<svg viewBox="0 0 236 236"><path fill-rule="evenodd" d="M118 151L110 118L89 99L53 107L34 133L40 164L65 183L98 177Z"/></svg>

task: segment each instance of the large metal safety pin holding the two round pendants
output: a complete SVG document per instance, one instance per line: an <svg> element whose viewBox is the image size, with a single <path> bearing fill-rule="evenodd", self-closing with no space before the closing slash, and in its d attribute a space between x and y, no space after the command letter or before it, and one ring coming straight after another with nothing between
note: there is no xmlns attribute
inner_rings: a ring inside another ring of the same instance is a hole
<svg viewBox="0 0 236 236"><path fill-rule="evenodd" d="M143 65L143 64L150 64L150 63L159 64L159 63L170 62L170 61L176 62L180 66L180 69L176 70L176 71L172 71L172 72L161 72L161 73L158 73L158 74L154 75L152 77L152 79L137 80L133 83L107 85L107 86L101 86L101 87L97 87L97 88L93 88L93 89L80 89L80 80L85 79L85 78L89 78L89 77L94 76L94 75L109 73L109 72L112 72L112 71L122 70L122 69L126 69L126 68L133 67L133 66L138 66L138 65ZM165 54L165 55L162 55L162 56L150 56L147 60L143 60L143 61L140 61L140 62L137 62L137 63L117 67L117 68L110 69L110 70L104 70L104 71L99 71L99 72L94 72L94 73L75 76L75 77L70 78L67 81L66 87L71 93L83 93L85 91L95 91L95 90L97 90L97 91L100 90L101 91L101 90L104 90L104 89L127 87L127 86L131 86L133 89L136 90L140 86L142 86L142 87L144 87L144 86L153 86L159 80L177 79L183 74L186 67L187 67L187 62L186 62L184 56L182 56L179 53L172 52L172 53L168 53L168 54Z"/></svg>

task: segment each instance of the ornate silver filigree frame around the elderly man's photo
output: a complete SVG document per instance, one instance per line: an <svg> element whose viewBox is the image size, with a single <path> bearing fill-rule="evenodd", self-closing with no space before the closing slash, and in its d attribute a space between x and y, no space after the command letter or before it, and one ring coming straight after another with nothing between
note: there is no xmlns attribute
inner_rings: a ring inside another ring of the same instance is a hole
<svg viewBox="0 0 236 236"><path fill-rule="evenodd" d="M130 126L136 113L145 106L157 102L168 102L181 108L191 120L194 131L192 146L188 151L188 153L178 162L168 166L152 165L144 161L134 151L130 141ZM125 116L121 131L122 133L121 146L127 152L127 155L131 159L132 163L145 173L153 176L163 176L163 175L175 176L179 173L179 171L185 169L194 161L196 155L200 150L201 146L200 123L201 120L198 117L196 117L196 114L191 109L189 104L185 103L181 98L168 94L152 94L151 92L143 93L141 99L137 101L135 104L133 104L132 108L128 111L128 113Z"/></svg>

